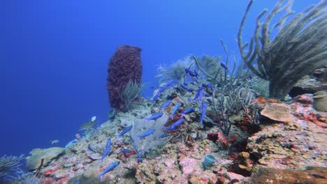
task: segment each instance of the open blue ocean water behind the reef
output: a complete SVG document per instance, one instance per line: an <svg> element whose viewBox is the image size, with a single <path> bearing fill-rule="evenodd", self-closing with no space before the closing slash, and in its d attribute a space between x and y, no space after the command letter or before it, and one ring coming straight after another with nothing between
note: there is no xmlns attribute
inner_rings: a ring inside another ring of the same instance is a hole
<svg viewBox="0 0 327 184"><path fill-rule="evenodd" d="M1 20L0 156L65 146L78 127L107 120L107 67L118 45L143 49L143 95L157 86L157 65L188 54L238 56L235 36L248 1L4 1ZM317 1L295 1L299 12ZM244 40L263 8L254 1Z"/></svg>

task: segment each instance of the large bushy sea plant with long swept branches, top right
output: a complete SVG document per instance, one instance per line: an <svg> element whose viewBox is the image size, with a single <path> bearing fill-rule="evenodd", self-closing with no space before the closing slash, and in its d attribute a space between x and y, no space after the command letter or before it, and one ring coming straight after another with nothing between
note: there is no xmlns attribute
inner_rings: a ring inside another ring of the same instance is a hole
<svg viewBox="0 0 327 184"><path fill-rule="evenodd" d="M266 79L271 98L283 100L298 80L308 72L326 65L327 58L327 0L321 0L296 14L291 6L293 0L279 0L273 10L260 22L268 10L256 18L256 29L249 43L242 42L242 30L253 0L249 1L238 31L238 47L242 60L255 75ZM284 12L278 22L271 21ZM272 33L278 29L273 37Z"/></svg>

